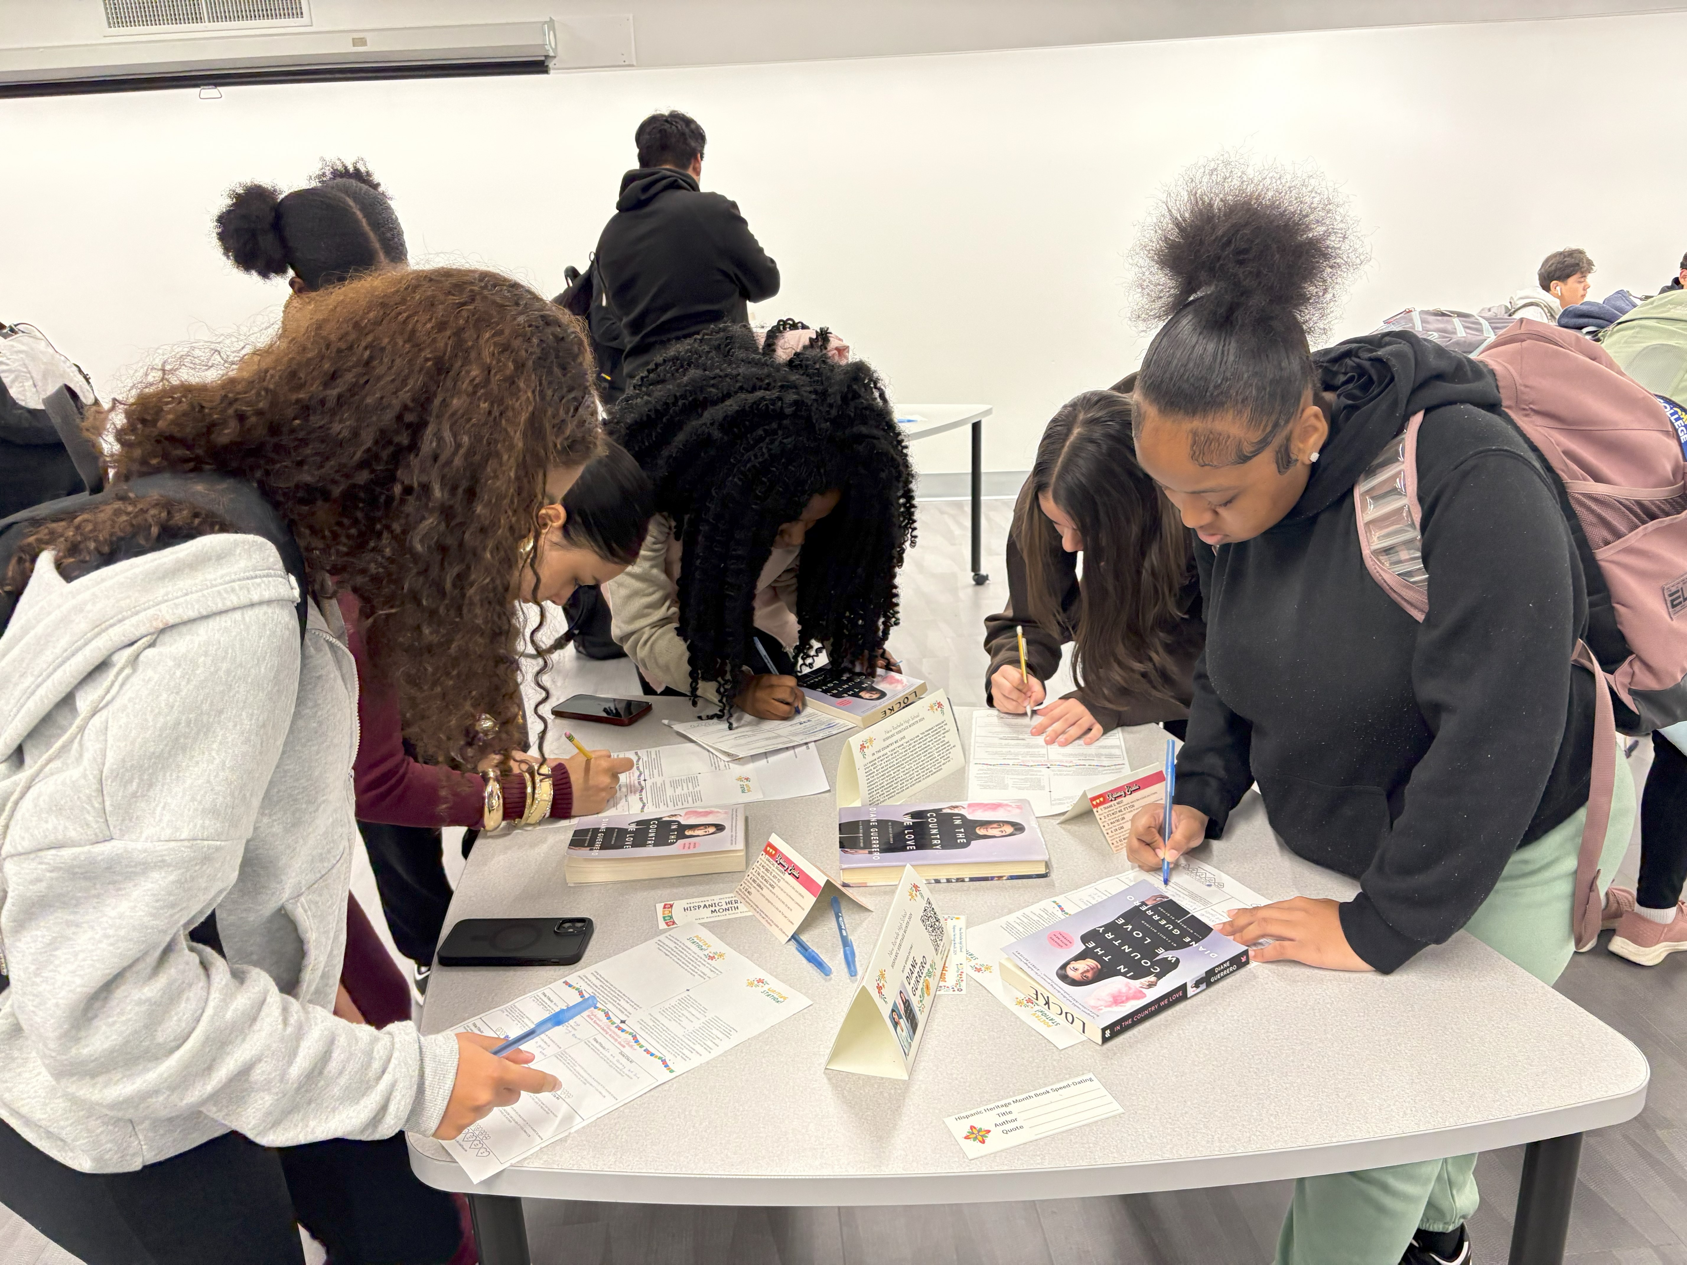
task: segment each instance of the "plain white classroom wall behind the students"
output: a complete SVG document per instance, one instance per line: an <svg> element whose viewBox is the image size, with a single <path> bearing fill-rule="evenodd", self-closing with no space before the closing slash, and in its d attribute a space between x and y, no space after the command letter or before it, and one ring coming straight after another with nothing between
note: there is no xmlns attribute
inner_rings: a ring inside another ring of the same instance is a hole
<svg viewBox="0 0 1687 1265"><path fill-rule="evenodd" d="M0 319L39 324L103 391L160 346L273 320L282 283L211 241L221 191L361 155L417 263L550 295L584 265L649 110L709 130L784 287L757 319L840 331L906 401L987 401L985 464L1026 469L1068 396L1132 369L1135 224L1226 147L1311 162L1373 261L1336 336L1405 305L1474 309L1584 246L1594 293L1687 250L1687 13L1112 44L548 78L0 101ZM1555 103L1559 101L1559 103ZM967 466L965 432L916 445Z"/></svg>

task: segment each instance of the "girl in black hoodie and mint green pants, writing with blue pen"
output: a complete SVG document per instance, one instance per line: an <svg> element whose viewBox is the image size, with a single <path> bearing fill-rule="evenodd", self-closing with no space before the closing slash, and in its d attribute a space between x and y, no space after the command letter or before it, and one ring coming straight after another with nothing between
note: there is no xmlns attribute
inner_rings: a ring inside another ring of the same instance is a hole
<svg viewBox="0 0 1687 1265"><path fill-rule="evenodd" d="M1356 261L1331 192L1233 159L1172 189L1140 248L1164 326L1137 376L1137 454L1198 536L1206 649L1159 810L1130 855L1218 837L1257 781L1291 850L1360 880L1218 929L1255 961L1393 972L1461 928L1542 980L1571 958L1594 680L1555 479L1483 364L1409 332L1311 353ZM1429 612L1366 570L1353 484L1424 412ZM1618 761L1601 874L1635 816ZM1280 1265L1466 1262L1474 1155L1302 1179Z"/></svg>

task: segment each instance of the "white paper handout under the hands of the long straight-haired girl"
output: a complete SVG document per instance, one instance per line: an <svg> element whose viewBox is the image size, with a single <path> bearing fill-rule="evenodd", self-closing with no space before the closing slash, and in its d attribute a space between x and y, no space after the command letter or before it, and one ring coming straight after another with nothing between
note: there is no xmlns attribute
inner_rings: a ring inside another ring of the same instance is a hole
<svg viewBox="0 0 1687 1265"><path fill-rule="evenodd" d="M968 799L1029 799L1038 816L1064 813L1091 786L1122 778L1130 767L1122 730L1091 746L1046 744L1031 735L1034 722L995 708L972 713Z"/></svg>

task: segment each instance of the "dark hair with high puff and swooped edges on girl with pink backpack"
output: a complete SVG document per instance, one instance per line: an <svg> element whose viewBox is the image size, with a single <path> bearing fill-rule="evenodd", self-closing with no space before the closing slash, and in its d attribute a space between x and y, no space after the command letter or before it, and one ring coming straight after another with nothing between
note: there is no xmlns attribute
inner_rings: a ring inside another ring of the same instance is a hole
<svg viewBox="0 0 1687 1265"><path fill-rule="evenodd" d="M1196 464L1252 460L1294 420L1312 383L1309 337L1365 256L1346 199L1318 174L1235 153L1189 167L1135 248L1139 314L1164 322L1137 398L1191 423Z"/></svg>

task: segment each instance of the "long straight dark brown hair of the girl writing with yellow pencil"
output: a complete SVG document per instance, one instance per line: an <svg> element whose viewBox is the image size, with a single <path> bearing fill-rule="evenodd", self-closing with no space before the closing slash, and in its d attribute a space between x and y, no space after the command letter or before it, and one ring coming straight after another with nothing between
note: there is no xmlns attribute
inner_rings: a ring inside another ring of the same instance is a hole
<svg viewBox="0 0 1687 1265"><path fill-rule="evenodd" d="M1038 498L1048 493L1083 538L1075 626L1061 617L1071 568ZM1075 643L1073 678L1103 702L1147 693L1176 698L1181 607L1191 553L1176 508L1137 466L1130 400L1085 391L1043 430L1031 477L1014 506L1026 562L1026 616Z"/></svg>

